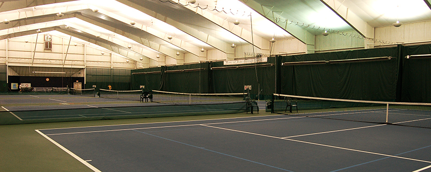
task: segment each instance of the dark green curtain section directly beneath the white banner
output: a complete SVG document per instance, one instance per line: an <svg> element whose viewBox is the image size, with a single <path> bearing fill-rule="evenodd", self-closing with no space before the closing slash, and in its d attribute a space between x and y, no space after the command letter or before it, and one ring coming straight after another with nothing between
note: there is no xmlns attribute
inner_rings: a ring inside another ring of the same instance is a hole
<svg viewBox="0 0 431 172"><path fill-rule="evenodd" d="M268 58L268 62L274 64L275 58ZM275 65L259 66L253 64L250 67L233 69L213 69L212 70L212 90L214 93L249 93L253 99L270 99L275 91ZM212 67L223 67L223 62L213 63ZM226 67L226 66L225 66ZM257 73L257 75L256 75ZM259 82L258 82L259 81ZM245 85L251 85L252 90L244 90Z"/></svg>

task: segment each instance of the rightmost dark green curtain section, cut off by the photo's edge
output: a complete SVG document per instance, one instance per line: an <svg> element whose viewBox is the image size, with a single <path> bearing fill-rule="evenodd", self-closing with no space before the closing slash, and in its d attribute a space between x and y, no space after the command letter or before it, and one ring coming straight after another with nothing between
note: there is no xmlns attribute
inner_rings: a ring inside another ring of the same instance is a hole
<svg viewBox="0 0 431 172"><path fill-rule="evenodd" d="M431 45L405 46L402 56L431 54ZM431 58L406 59L402 64L402 102L431 103Z"/></svg>

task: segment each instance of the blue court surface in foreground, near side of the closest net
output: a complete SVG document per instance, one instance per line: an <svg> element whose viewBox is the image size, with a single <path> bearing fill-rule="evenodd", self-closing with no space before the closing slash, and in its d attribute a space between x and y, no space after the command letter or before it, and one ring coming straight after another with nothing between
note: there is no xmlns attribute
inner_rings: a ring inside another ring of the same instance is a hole
<svg viewBox="0 0 431 172"><path fill-rule="evenodd" d="M431 129L271 115L36 130L95 172L430 172Z"/></svg>

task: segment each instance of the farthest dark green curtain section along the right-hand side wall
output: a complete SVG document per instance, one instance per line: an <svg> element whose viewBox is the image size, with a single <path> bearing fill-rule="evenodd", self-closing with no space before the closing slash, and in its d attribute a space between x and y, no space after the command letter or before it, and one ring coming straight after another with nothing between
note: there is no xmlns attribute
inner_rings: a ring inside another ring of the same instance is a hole
<svg viewBox="0 0 431 172"><path fill-rule="evenodd" d="M144 91L159 90L160 87L160 71L161 67L137 69L132 72L132 90L140 90L139 86L144 85ZM158 72L158 73L147 73L142 72ZM135 74L133 74L135 73ZM140 73L140 74L139 74Z"/></svg>

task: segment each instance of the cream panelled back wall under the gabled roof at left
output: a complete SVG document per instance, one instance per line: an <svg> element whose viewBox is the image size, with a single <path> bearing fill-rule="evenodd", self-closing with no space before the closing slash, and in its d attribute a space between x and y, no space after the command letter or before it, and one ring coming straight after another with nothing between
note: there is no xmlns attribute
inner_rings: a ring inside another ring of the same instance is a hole
<svg viewBox="0 0 431 172"><path fill-rule="evenodd" d="M68 39L53 35L52 41L52 50L45 50L43 34L38 36L37 45L36 35L0 40L0 64L68 68L136 68L135 61L129 59L129 62L126 62L126 59L120 55L110 54L109 51L96 49L91 45L72 41L68 50ZM146 63L143 64L144 66L148 66L148 60L144 63Z"/></svg>

